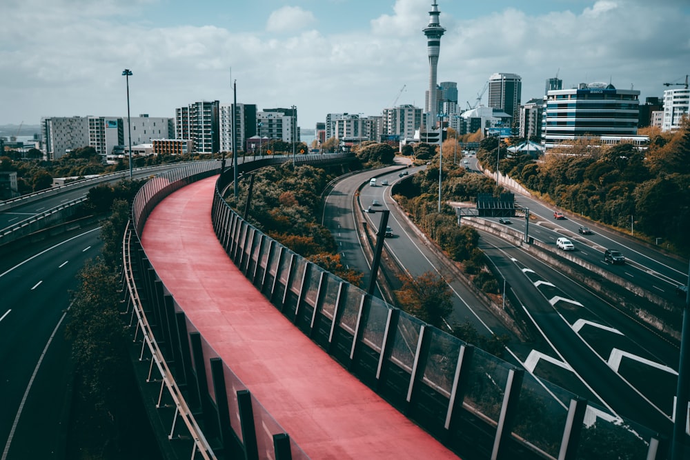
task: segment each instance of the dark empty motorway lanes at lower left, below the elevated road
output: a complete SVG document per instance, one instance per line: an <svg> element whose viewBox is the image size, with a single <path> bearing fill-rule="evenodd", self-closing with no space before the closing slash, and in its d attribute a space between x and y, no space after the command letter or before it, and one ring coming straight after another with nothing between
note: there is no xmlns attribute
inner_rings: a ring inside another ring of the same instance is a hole
<svg viewBox="0 0 690 460"><path fill-rule="evenodd" d="M1 459L64 458L72 383L64 340L69 290L100 250L99 229L12 252L0 261Z"/></svg>

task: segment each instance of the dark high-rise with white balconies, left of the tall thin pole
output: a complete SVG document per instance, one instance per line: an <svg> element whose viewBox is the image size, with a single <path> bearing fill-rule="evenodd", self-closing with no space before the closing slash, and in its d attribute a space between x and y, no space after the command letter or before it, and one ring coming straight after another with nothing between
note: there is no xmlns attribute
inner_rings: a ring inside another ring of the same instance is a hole
<svg viewBox="0 0 690 460"><path fill-rule="evenodd" d="M175 139L190 139L194 153L220 151L219 101L190 103L175 110ZM133 134L132 134L132 137Z"/></svg>

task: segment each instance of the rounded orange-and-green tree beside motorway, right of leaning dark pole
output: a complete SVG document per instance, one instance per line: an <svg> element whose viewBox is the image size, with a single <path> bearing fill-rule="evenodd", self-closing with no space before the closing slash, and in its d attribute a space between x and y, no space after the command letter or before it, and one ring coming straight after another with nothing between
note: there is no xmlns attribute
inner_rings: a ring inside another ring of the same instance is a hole
<svg viewBox="0 0 690 460"><path fill-rule="evenodd" d="M419 277L404 277L403 286L395 291L402 310L444 329L444 318L453 312L452 291L448 283L433 272Z"/></svg>

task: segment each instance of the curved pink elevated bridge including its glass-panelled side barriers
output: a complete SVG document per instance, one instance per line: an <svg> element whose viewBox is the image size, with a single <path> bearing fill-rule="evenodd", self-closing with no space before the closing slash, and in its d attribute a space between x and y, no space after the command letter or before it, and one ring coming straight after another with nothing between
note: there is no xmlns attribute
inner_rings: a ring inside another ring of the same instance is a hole
<svg viewBox="0 0 690 460"><path fill-rule="evenodd" d="M586 417L587 401L250 226L221 196L232 173L199 164L152 179L123 241L126 312L175 449L193 458L576 459L606 434L616 451L661 458L656 433Z"/></svg>

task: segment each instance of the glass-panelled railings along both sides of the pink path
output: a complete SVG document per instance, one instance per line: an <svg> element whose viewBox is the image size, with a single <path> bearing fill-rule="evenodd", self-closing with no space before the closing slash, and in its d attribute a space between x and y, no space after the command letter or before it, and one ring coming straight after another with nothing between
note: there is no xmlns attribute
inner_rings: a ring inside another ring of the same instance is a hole
<svg viewBox="0 0 690 460"><path fill-rule="evenodd" d="M257 158L238 170L275 162ZM137 194L132 206L137 234L164 196L213 172L173 173L153 179ZM232 170L219 177L211 215L230 259L297 328L451 450L464 458L569 460L580 458L578 449L610 448L612 456L625 450L638 452L640 459L657 458L655 432L369 296L250 226L221 196L232 177ZM137 287L146 290L152 333L165 343L161 354L175 363L172 377L193 399L188 406L204 417L207 442L251 458L258 452L306 458L184 317L144 252L137 253ZM264 430L255 430L256 423ZM585 430L591 436L580 437ZM615 442L595 446L598 434Z"/></svg>

